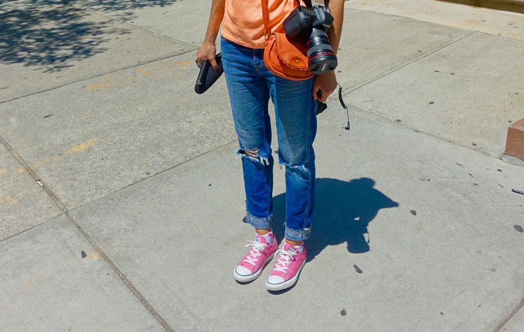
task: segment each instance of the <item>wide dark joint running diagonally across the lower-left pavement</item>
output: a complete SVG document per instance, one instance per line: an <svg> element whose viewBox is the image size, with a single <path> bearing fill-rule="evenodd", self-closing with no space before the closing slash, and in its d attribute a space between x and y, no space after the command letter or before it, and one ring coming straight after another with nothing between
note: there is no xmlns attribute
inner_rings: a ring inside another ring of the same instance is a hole
<svg viewBox="0 0 524 332"><path fill-rule="evenodd" d="M82 226L70 215L69 210L65 205L60 201L60 199L54 194L54 192L49 189L49 187L43 182L43 180L36 174L35 170L32 169L25 160L13 149L13 147L5 140L4 137L0 135L0 142L7 148L9 153L11 153L18 162L24 166L24 168L27 170L29 175L37 181L37 183L42 187L43 190L47 192L49 197L54 201L54 203L62 210L67 219L69 219L74 226L77 227L77 229L82 233L84 238L89 241L89 243L92 245L92 247L102 256L102 258L111 266L111 268L116 272L116 274L120 277L120 279L124 282L124 284L127 286L129 291L135 295L136 298L140 301L144 307L146 307L146 310L153 316L155 319L162 325L162 327L167 332L175 332L174 329L172 329L167 321L158 314L158 312L155 310L154 307L152 307L149 302L146 300L146 298L133 286L133 284L127 279L127 277L118 269L118 267L111 261L111 259L102 251L102 249L99 247L98 244L91 238L91 236L82 228ZM36 226L35 226L36 227ZM26 230L27 231L27 230Z"/></svg>

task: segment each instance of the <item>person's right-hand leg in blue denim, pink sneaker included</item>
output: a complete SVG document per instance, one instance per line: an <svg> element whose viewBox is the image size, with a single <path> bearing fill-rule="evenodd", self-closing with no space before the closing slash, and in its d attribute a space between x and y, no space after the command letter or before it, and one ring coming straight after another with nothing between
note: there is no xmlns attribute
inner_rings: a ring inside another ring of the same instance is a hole
<svg viewBox="0 0 524 332"><path fill-rule="evenodd" d="M286 240L266 286L278 291L294 285L305 264L303 240L310 235L314 206L316 103L313 79L290 81L266 76L275 104L278 157L286 167Z"/></svg>

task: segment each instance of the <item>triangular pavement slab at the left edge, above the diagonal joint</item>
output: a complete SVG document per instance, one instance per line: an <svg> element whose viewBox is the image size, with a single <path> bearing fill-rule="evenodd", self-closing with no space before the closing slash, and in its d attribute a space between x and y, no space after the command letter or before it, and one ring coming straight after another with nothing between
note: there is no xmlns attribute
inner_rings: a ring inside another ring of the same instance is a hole
<svg viewBox="0 0 524 332"><path fill-rule="evenodd" d="M62 210L0 143L0 241L60 213Z"/></svg>

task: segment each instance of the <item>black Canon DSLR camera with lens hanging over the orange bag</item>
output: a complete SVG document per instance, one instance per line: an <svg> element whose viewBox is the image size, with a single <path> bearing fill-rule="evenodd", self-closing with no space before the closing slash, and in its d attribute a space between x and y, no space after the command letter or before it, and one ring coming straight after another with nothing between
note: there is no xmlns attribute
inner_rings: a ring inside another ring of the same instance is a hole
<svg viewBox="0 0 524 332"><path fill-rule="evenodd" d="M284 20L284 31L289 38L305 35L308 65L313 74L329 73L336 68L338 62L326 34L333 24L327 2L326 7L314 5L311 8L300 5L298 0L297 3L298 7Z"/></svg>

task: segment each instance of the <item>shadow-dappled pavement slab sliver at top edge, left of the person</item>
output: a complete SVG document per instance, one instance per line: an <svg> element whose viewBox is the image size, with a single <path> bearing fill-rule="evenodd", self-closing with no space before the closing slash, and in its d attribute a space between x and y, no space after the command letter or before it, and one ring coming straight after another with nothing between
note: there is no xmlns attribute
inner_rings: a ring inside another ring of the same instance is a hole
<svg viewBox="0 0 524 332"><path fill-rule="evenodd" d="M169 13L184 7L207 3L205 11L209 17L211 0L74 0L71 5L78 8L88 9L113 17L124 22L132 22L136 18L151 16L159 13ZM179 19L184 19L179 17ZM134 22L133 22L134 23Z"/></svg>

